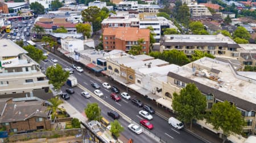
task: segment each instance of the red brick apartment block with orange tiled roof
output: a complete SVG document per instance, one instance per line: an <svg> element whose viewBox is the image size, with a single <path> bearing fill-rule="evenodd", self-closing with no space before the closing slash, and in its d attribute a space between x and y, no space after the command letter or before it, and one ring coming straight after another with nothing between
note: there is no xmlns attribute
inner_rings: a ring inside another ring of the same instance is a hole
<svg viewBox="0 0 256 143"><path fill-rule="evenodd" d="M143 38L142 52L149 53L150 47L150 30L139 29L136 27L119 27L105 28L103 32L103 47L104 50L110 51L114 49L129 51L131 46L137 45L138 40Z"/></svg>

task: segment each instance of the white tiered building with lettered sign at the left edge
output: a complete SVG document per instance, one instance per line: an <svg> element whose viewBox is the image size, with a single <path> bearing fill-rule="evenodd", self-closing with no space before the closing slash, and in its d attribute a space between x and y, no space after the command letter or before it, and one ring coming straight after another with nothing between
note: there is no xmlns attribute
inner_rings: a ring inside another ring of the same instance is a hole
<svg viewBox="0 0 256 143"><path fill-rule="evenodd" d="M0 43L0 96L33 90L48 92L46 75L39 64L26 55L27 51L10 40L2 39Z"/></svg>

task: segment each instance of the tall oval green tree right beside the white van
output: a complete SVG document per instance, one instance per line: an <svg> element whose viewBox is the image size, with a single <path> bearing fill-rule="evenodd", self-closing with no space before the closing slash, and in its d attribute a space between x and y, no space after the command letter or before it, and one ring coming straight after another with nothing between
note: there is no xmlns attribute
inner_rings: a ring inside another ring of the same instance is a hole
<svg viewBox="0 0 256 143"><path fill-rule="evenodd" d="M193 83L187 84L185 88L180 90L180 94L174 93L173 96L172 107L178 119L190 123L192 129L193 119L203 119L207 107L206 97Z"/></svg>

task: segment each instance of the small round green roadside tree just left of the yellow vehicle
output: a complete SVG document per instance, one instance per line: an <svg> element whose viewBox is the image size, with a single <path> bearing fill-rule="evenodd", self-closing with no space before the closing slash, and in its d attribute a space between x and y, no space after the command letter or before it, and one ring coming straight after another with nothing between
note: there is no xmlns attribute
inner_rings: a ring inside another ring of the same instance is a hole
<svg viewBox="0 0 256 143"><path fill-rule="evenodd" d="M101 119L101 109L98 106L98 103L88 103L84 109L85 115L89 120L98 120Z"/></svg>

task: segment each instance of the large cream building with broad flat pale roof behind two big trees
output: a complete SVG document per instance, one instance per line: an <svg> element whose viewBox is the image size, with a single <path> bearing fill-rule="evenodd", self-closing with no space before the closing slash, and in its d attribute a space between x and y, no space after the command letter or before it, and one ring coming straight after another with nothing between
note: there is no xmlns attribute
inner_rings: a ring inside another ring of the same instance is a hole
<svg viewBox="0 0 256 143"><path fill-rule="evenodd" d="M256 133L256 79L237 73L230 63L220 60L202 58L168 73L167 84L163 86L163 97L172 103L172 94L179 92L188 83L195 83L197 88L207 97L207 110L214 103L228 101L237 106L246 121L243 133ZM254 74L255 75L255 74ZM254 76L255 77L255 76ZM199 122L198 122L199 123ZM207 124L205 128L216 131ZM232 140L232 138L229 138ZM233 139L234 140L234 139Z"/></svg>

